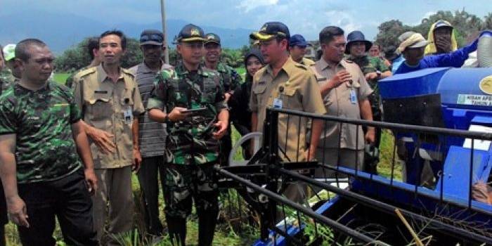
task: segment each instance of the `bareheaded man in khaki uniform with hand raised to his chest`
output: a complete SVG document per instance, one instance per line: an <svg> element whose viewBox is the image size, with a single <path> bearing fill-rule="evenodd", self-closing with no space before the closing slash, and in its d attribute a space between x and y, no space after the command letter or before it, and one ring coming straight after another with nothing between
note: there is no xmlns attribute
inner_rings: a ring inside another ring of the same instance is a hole
<svg viewBox="0 0 492 246"><path fill-rule="evenodd" d="M339 27L325 27L319 34L323 56L311 66L320 83L328 115L349 119L373 120L368 96L373 93L365 81L361 69L355 63L344 60L345 37ZM358 136L357 136L358 135ZM327 122L316 151L316 159L325 164L361 170L363 164L364 140L374 143L375 130L368 127L363 134L362 127L354 124ZM339 158L339 159L338 159ZM330 176L330 171L316 170L317 177Z"/></svg>

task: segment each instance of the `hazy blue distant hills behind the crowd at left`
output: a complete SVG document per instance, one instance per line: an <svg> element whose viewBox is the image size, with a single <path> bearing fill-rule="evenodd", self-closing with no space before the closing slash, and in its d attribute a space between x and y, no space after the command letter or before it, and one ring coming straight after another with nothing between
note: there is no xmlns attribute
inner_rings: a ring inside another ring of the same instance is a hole
<svg viewBox="0 0 492 246"><path fill-rule="evenodd" d="M128 37L138 38L144 29L162 29L160 22L145 24L121 23L106 25L103 22L91 20L77 15L63 13L37 13L36 16L25 16L20 13L1 15L0 44L18 42L27 37L41 39L50 46L55 53L61 53L66 48L82 41L84 37L98 36L101 32L110 29L122 30ZM171 45L185 20L167 20L167 41ZM200 23L194 23L199 25ZM221 37L222 46L226 48L240 48L248 44L252 30L226 29L221 27L201 26L205 32L214 32Z"/></svg>

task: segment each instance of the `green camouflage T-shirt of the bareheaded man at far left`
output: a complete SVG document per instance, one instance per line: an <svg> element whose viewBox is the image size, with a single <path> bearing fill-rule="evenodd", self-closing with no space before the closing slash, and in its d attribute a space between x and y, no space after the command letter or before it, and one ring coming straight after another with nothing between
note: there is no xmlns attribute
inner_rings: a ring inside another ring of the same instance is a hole
<svg viewBox="0 0 492 246"><path fill-rule="evenodd" d="M9 86L0 96L0 114L0 134L16 134L18 183L52 181L82 167L71 129L81 115L65 86Z"/></svg>

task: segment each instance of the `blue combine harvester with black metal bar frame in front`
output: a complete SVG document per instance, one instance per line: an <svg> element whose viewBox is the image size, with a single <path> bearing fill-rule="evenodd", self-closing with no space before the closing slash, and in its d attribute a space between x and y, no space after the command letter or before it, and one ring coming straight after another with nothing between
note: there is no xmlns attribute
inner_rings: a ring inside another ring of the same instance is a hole
<svg viewBox="0 0 492 246"><path fill-rule="evenodd" d="M261 238L254 245L492 245L492 205L472 199L474 185L491 181L492 68L420 70L379 86L385 122L267 110L262 147L252 160L217 169L260 216ZM297 116L384 129L395 136L390 174L282 162L278 118ZM394 179L396 156L406 167L404 181ZM349 188L313 179L319 167L334 172L335 181L349 176ZM296 171L306 168L309 174ZM294 181L330 196L309 207L278 195ZM287 208L294 214L286 216ZM308 225L315 240L305 236ZM330 238L321 235L322 227Z"/></svg>

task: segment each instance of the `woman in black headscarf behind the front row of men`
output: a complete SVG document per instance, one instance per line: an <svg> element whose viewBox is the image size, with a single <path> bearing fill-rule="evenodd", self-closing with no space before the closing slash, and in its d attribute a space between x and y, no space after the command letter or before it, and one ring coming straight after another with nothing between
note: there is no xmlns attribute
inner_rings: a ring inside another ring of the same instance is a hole
<svg viewBox="0 0 492 246"><path fill-rule="evenodd" d="M231 98L229 99L229 106L231 110L229 112L231 121L235 129L241 134L241 136L245 136L249 134L251 131L251 112L250 112L250 95L251 95L251 85L253 81L254 74L264 67L265 63L263 60L263 56L261 56L261 52L257 48L252 48L250 52L245 55L245 67L246 67L246 75L245 82L240 84L235 90ZM250 145L244 144L243 148L243 156L245 159L250 158Z"/></svg>

